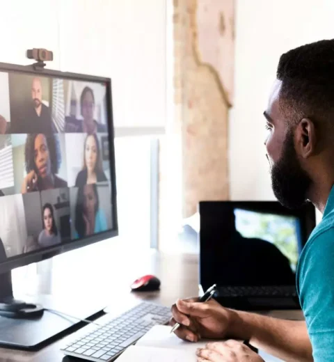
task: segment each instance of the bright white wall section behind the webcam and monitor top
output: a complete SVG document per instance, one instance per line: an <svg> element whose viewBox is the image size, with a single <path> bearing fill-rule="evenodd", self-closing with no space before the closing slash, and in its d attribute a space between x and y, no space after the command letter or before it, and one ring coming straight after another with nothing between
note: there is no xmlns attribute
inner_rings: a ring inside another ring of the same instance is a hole
<svg viewBox="0 0 334 362"><path fill-rule="evenodd" d="M1 13L1 62L50 49L47 68L111 77L118 127L164 130L166 0L12 0Z"/></svg>

